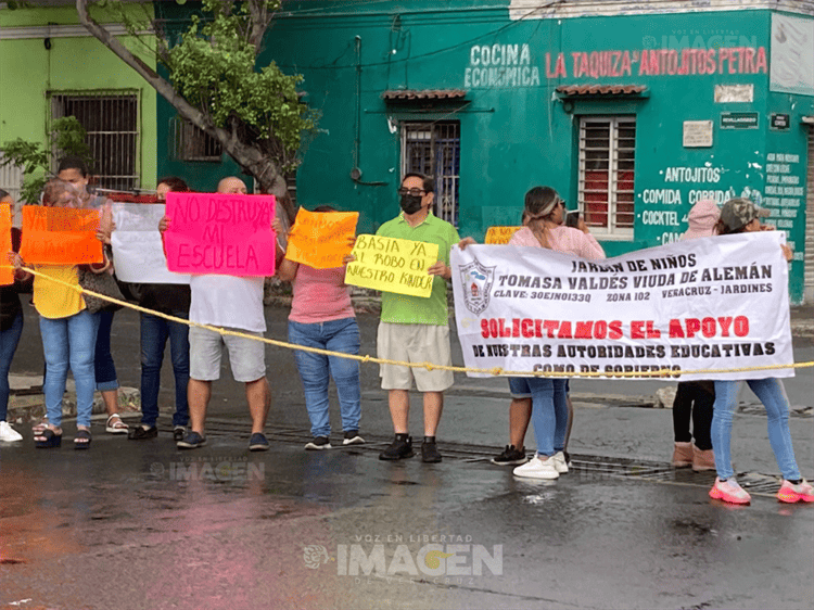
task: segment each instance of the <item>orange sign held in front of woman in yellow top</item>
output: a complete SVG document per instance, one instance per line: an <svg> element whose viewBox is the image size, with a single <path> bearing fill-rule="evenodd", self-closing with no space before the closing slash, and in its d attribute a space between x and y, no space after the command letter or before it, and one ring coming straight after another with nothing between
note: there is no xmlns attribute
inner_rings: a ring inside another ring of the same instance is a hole
<svg viewBox="0 0 814 610"><path fill-rule="evenodd" d="M98 209L23 206L20 256L35 265L102 263Z"/></svg>

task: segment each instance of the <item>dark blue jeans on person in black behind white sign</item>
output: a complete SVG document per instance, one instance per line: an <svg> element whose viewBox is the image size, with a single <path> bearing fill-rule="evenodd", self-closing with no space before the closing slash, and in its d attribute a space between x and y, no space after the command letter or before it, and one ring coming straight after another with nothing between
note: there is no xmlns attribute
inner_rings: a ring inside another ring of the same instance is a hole
<svg viewBox="0 0 814 610"><path fill-rule="evenodd" d="M173 312L186 318L186 312ZM187 384L189 383L189 327L158 316L141 314L141 423L155 425L158 419L158 389L164 350L169 339L169 354L175 374L175 415L173 425L189 423Z"/></svg>

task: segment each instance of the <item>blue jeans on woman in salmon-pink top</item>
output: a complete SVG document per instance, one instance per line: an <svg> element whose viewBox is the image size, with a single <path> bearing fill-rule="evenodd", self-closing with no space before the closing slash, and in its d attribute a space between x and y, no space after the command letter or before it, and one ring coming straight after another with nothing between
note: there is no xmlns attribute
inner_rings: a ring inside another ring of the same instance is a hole
<svg viewBox="0 0 814 610"><path fill-rule="evenodd" d="M289 341L296 345L319 347L343 354L359 353L359 327L356 318L304 325L289 320ZM313 436L328 436L331 423L328 418L329 373L336 384L344 431L358 430L361 418L361 391L359 390L359 363L338 356L322 356L302 350L294 351L294 361L303 380L305 407L310 419Z"/></svg>

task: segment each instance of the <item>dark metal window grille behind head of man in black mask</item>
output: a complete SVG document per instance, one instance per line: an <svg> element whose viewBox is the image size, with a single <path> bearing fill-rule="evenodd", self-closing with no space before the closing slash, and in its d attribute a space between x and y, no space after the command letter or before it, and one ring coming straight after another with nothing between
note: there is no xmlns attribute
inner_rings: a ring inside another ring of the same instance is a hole
<svg viewBox="0 0 814 610"><path fill-rule="evenodd" d="M435 179L435 215L457 227L460 123L403 123L402 175L410 171Z"/></svg>

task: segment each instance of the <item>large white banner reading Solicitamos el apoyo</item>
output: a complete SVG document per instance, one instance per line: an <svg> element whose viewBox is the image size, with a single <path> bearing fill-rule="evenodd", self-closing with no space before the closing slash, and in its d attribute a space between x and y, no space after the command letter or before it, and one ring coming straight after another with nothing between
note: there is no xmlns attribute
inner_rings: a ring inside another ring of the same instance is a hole
<svg viewBox="0 0 814 610"><path fill-rule="evenodd" d="M465 363L562 377L793 377L791 368L682 374L793 363L784 238L705 238L598 262L537 247L454 247Z"/></svg>

